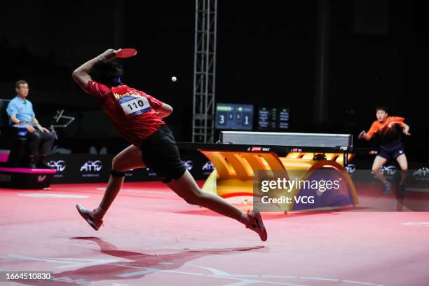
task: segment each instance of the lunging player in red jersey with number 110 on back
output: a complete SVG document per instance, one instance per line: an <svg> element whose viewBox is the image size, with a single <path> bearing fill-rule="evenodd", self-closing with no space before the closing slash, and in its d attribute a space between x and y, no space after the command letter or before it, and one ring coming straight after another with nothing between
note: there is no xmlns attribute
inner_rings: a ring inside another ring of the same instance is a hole
<svg viewBox="0 0 429 286"><path fill-rule="evenodd" d="M223 198L200 190L184 168L175 138L163 121L172 113L172 107L123 84L122 67L115 60L118 53L121 49L106 50L72 74L81 89L100 104L119 135L130 143L112 161L111 175L100 205L93 211L76 205L81 216L98 230L104 214L121 189L125 171L147 167L187 203L236 219L265 241L266 229L257 210L243 212Z"/></svg>

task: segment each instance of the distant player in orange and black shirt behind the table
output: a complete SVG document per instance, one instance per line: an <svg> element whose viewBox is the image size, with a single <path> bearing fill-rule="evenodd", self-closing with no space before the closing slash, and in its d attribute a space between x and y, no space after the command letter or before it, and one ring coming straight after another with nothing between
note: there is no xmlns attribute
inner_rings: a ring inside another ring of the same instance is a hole
<svg viewBox="0 0 429 286"><path fill-rule="evenodd" d="M388 109L385 106L376 108L376 117L377 120L372 123L368 132L360 132L359 139L364 138L365 140L369 140L375 135L379 135L380 149L372 164L372 170L376 177L384 184L383 194L387 194L390 192L392 185L380 172L380 168L391 158L396 159L402 170L400 193L403 194L405 191L404 182L407 177L408 162L404 154L401 133L410 135L409 125L404 123L404 118L402 117L388 116ZM402 130L398 129L398 127L402 128Z"/></svg>

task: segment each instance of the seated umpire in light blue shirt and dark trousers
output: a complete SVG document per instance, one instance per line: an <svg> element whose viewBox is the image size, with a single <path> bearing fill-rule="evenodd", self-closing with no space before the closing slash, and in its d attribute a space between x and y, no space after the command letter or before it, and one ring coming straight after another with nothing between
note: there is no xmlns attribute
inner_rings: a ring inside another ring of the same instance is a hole
<svg viewBox="0 0 429 286"><path fill-rule="evenodd" d="M27 81L17 81L15 90L16 97L9 102L6 111L11 125L19 124L28 131L26 135L29 146L28 168L49 168L45 159L50 155L55 137L37 121L32 102L27 100L29 90Z"/></svg>

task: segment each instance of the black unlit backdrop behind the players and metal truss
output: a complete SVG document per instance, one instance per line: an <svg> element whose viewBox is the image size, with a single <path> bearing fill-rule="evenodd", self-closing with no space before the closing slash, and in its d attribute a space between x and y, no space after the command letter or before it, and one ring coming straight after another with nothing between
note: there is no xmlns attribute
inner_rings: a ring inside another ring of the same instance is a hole
<svg viewBox="0 0 429 286"><path fill-rule="evenodd" d="M138 4L137 4L138 3ZM216 101L290 107L290 131L368 130L374 108L404 116L407 156L428 160L428 33L424 1L330 1L326 118L315 121L317 1L224 1L217 11ZM191 140L194 1L15 1L0 18L0 98L29 82L44 125L56 109L76 116L58 147L116 153L119 139L71 71L107 48L134 47L123 60L128 86L174 107L166 119ZM177 82L170 81L177 76Z"/></svg>

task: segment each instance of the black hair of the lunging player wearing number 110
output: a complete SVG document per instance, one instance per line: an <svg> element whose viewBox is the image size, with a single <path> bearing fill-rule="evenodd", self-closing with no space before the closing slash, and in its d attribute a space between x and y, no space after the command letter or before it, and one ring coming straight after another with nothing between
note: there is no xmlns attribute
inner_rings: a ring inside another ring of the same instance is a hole
<svg viewBox="0 0 429 286"><path fill-rule="evenodd" d="M123 67L117 60L101 60L93 65L89 74L93 81L102 83L104 86L118 86L121 84Z"/></svg>

